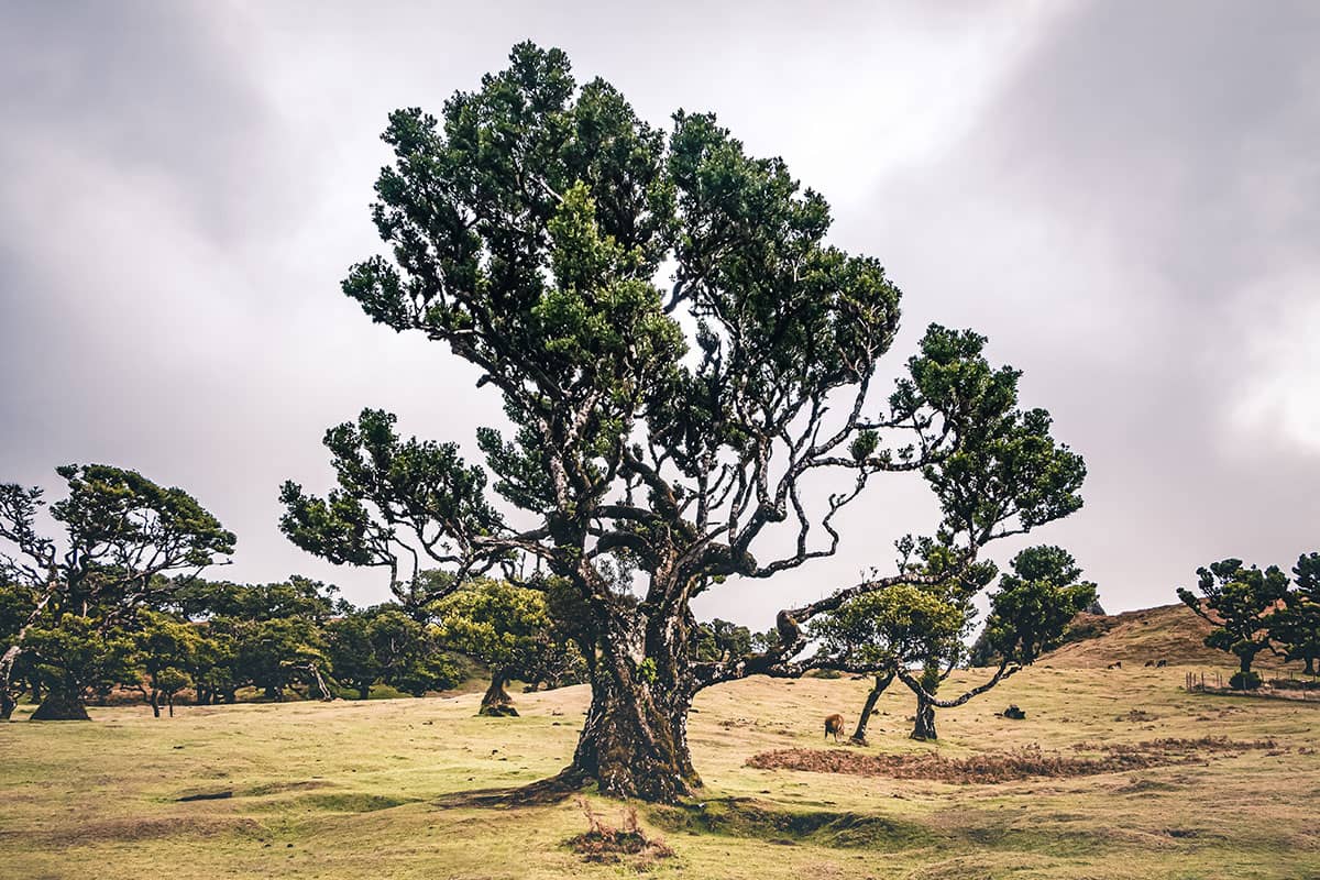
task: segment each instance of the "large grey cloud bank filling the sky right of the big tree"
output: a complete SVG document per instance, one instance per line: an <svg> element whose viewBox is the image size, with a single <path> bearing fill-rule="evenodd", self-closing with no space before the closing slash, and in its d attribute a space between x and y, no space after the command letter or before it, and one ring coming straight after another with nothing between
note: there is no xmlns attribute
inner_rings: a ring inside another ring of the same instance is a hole
<svg viewBox="0 0 1320 880"><path fill-rule="evenodd" d="M1111 606L1320 536L1320 450L1232 418L1271 314L1320 276L1317 44L1309 4L1074 8L965 140L845 218L911 294L909 332L986 330L1086 455L1088 507L1039 538Z"/></svg>

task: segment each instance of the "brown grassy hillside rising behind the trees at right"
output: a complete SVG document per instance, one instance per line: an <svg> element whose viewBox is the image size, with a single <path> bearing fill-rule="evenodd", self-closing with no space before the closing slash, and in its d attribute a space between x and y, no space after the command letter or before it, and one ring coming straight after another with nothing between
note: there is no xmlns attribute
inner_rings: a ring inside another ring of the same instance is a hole
<svg viewBox="0 0 1320 880"><path fill-rule="evenodd" d="M1179 603L1125 611L1118 615L1080 613L1069 627L1068 643L1045 654L1040 662L1072 669L1105 668L1113 662L1143 666L1146 661L1173 665L1204 665L1233 669L1236 660L1222 650L1205 646L1210 624ZM1263 669L1302 669L1283 664L1270 653L1257 657Z"/></svg>

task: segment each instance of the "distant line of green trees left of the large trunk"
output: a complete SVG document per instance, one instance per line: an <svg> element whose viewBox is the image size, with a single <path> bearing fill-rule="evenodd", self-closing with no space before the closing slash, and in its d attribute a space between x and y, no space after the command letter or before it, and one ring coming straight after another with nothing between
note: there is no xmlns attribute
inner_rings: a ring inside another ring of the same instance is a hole
<svg viewBox="0 0 1320 880"><path fill-rule="evenodd" d="M499 606L487 608L498 623L473 613L474 596ZM454 598L409 612L397 603L355 608L334 586L301 577L265 584L157 577L132 613L95 603L42 608L15 657L8 695L54 699L53 708L77 714L79 703L128 691L158 715L181 699L366 699L380 686L421 697L483 668L533 689L581 681L581 658L553 632L541 594L480 579ZM5 650L41 599L32 584L0 584Z"/></svg>

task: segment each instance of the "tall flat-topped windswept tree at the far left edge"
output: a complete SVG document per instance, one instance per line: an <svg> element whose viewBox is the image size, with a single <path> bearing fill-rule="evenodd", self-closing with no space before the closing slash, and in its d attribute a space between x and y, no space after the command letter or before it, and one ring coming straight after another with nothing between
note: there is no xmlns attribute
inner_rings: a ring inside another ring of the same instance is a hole
<svg viewBox="0 0 1320 880"><path fill-rule="evenodd" d="M176 587L165 575L195 575L234 551L234 534L183 489L106 464L67 464L55 472L69 486L67 496L50 507L63 526L59 541L38 529L45 505L40 488L0 486L0 578L36 596L0 658L4 718L13 711L15 664L36 629L44 633L42 666L51 690L33 718L87 718L74 665L90 660L91 643L132 631L140 608L164 603ZM63 676L54 674L65 662L61 644L70 649Z"/></svg>

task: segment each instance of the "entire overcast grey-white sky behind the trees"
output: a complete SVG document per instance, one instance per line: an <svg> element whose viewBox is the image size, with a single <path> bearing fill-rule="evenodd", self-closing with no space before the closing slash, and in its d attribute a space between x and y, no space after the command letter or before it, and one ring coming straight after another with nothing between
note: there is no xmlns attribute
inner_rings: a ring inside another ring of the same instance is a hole
<svg viewBox="0 0 1320 880"><path fill-rule="evenodd" d="M226 577L383 599L280 536L277 487L323 491L323 430L367 405L469 449L500 422L338 282L378 251L385 113L532 38L653 123L710 110L784 156L903 288L895 363L940 321L1024 369L1090 470L1034 540L1110 611L1320 549L1320 4L651 7L0 7L0 480L135 467L238 532ZM888 563L929 526L915 488L879 482L837 558L701 612L764 627Z"/></svg>

